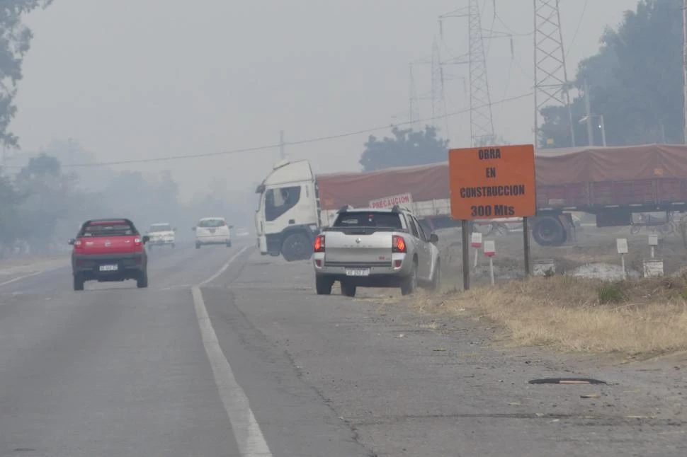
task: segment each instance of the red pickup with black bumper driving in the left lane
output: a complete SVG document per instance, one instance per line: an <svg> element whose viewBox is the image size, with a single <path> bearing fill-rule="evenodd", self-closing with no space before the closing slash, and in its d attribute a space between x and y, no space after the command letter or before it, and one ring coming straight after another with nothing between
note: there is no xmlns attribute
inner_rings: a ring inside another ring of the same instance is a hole
<svg viewBox="0 0 687 457"><path fill-rule="evenodd" d="M84 290L86 281L136 279L148 287L148 255L145 243L129 219L92 219L81 224L79 234L69 240L72 250L74 290Z"/></svg>

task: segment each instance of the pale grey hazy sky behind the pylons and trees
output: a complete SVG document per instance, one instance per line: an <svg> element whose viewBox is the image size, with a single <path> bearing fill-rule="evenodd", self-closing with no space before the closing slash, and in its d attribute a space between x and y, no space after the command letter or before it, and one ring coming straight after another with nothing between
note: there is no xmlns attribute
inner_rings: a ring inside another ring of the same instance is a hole
<svg viewBox="0 0 687 457"><path fill-rule="evenodd" d="M492 4L484 0L484 28ZM516 33L533 30L532 0L495 0ZM569 78L636 0L561 0ZM55 0L28 17L35 37L11 125L25 151L72 137L103 161L200 154L356 132L408 120L409 62L431 57L437 18L467 0ZM583 14L584 11L584 14ZM506 31L496 21L494 30ZM577 34L576 34L577 30ZM574 37L574 41L573 41ZM444 57L467 50L467 21L444 26ZM492 100L531 91L533 37L491 40ZM467 68L447 86L448 110L465 109ZM428 66L415 72L419 95ZM421 116L431 115L423 100ZM533 141L531 97L494 105L496 131ZM469 116L450 117L450 144L469 144ZM388 129L376 132L383 135ZM288 146L316 172L358 170L368 134ZM278 151L161 162L185 195L212 178L252 187ZM128 166L127 168L134 168Z"/></svg>

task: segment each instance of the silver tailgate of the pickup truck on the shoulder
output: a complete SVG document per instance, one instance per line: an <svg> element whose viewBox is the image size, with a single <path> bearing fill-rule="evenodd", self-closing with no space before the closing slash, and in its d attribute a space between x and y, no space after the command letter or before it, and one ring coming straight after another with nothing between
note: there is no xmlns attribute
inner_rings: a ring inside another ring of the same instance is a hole
<svg viewBox="0 0 687 457"><path fill-rule="evenodd" d="M344 228L324 233L325 265L390 265L392 231L375 228Z"/></svg>

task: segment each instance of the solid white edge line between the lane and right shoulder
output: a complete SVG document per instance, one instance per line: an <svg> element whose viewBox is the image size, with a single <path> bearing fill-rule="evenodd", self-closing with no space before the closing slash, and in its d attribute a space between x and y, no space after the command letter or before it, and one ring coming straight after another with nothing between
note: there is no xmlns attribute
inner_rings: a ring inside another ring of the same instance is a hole
<svg viewBox="0 0 687 457"><path fill-rule="evenodd" d="M205 353L208 354L210 366L212 366L212 374L215 376L217 391L220 393L222 404L225 406L229 422L231 422L232 429L234 429L234 437L239 445L239 452L242 457L268 457L272 456L272 452L267 446L258 421L256 421L253 410L251 410L248 397L246 397L246 393L239 386L236 378L234 378L232 366L229 365L225 353L222 352L215 329L212 328L212 321L210 316L208 316L208 308L205 308L203 294L200 292L200 286L217 279L248 248L249 246L246 246L239 250L217 273L200 282L200 284L191 287L191 294L193 294L195 317L198 318Z"/></svg>

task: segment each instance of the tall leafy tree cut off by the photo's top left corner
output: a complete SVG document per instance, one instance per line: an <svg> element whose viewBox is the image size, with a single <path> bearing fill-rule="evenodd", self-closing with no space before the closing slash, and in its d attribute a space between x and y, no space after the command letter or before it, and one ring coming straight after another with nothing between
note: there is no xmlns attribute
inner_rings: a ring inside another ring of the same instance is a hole
<svg viewBox="0 0 687 457"><path fill-rule="evenodd" d="M33 37L21 22L25 13L46 8L52 0L3 0L0 5L0 142L17 146L18 139L8 131L16 114L13 105L17 83L21 80L21 64Z"/></svg>

